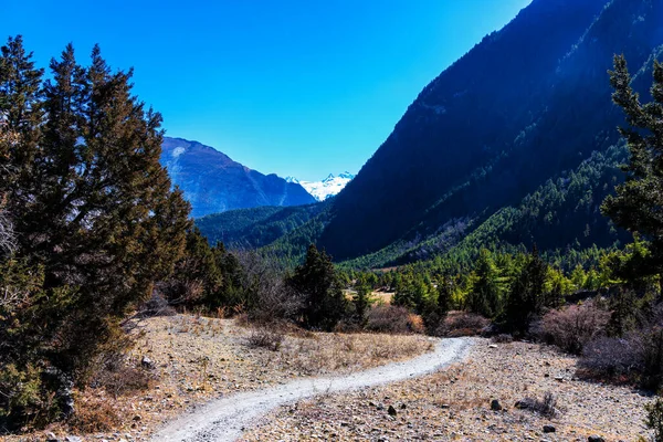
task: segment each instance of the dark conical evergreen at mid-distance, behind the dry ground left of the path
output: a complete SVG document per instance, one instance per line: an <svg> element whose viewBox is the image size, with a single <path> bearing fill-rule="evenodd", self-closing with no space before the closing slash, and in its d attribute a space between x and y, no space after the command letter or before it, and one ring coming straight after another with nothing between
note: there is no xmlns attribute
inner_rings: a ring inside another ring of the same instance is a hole
<svg viewBox="0 0 663 442"><path fill-rule="evenodd" d="M305 327L330 330L345 314L346 299L332 259L314 244L308 246L306 261L295 269L288 285L304 301L301 316Z"/></svg>

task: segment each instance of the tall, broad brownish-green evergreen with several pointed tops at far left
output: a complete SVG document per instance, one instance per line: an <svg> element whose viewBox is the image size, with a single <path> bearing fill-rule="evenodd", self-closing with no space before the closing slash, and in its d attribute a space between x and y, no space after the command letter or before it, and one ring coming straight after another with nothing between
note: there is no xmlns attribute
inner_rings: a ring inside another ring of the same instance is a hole
<svg viewBox="0 0 663 442"><path fill-rule="evenodd" d="M71 45L51 71L40 88L21 39L2 48L0 160L15 179L0 191L15 259L40 277L20 308L0 313L13 327L2 338L20 349L0 358L0 377L60 391L50 403L66 414L62 391L119 349L120 322L172 271L190 221L159 164L161 117L131 95L131 72L113 73L96 46L82 67ZM20 422L30 410L10 413Z"/></svg>

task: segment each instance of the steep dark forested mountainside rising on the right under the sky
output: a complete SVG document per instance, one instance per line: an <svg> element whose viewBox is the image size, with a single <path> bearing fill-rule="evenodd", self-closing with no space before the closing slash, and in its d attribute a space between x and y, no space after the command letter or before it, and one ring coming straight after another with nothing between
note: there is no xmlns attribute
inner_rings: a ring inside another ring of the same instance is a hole
<svg viewBox="0 0 663 442"><path fill-rule="evenodd" d="M315 229L271 249L305 236L381 266L623 240L599 213L627 159L608 71L623 53L649 97L662 22L661 0L533 1L424 87Z"/></svg>

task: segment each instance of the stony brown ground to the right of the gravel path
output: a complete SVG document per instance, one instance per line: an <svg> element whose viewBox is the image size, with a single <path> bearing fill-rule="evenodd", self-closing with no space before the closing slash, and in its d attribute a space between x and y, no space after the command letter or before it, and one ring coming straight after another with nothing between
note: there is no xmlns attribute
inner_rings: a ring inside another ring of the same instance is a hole
<svg viewBox="0 0 663 442"><path fill-rule="evenodd" d="M638 441L649 436L651 400L579 379L576 359L549 347L482 340L467 361L431 376L281 407L242 440Z"/></svg>

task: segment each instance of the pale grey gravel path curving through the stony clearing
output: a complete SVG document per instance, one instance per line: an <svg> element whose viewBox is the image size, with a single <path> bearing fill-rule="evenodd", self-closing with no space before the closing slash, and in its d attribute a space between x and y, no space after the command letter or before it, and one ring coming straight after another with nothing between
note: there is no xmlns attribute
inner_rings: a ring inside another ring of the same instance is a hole
<svg viewBox="0 0 663 442"><path fill-rule="evenodd" d="M296 380L261 391L217 399L164 427L152 441L234 441L244 427L270 410L301 399L394 382L439 370L466 356L471 338L443 339L418 358L356 373Z"/></svg>

